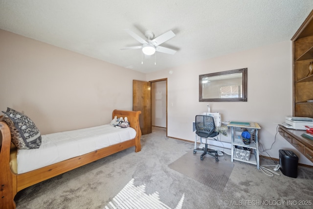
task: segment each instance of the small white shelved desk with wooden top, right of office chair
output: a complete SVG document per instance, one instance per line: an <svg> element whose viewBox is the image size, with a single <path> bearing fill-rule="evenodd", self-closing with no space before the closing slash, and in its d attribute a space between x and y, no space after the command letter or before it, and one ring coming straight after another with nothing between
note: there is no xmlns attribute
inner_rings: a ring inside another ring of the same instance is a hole
<svg viewBox="0 0 313 209"><path fill-rule="evenodd" d="M230 121L227 124L228 127L231 129L231 162L234 160L242 161L246 163L255 164L257 169L260 169L260 159L259 159L259 143L258 143L258 130L261 129L259 124L255 122L236 122L236 121ZM248 131L253 131L253 134L251 135L251 143L250 144L244 144L241 135L235 136L235 128L240 128L242 131L244 129L247 129ZM253 140L254 137L254 140ZM242 146L242 147L248 147L251 150L254 150L254 153L250 154L250 159L248 161L236 159L234 158L234 146ZM253 157L254 156L254 157Z"/></svg>

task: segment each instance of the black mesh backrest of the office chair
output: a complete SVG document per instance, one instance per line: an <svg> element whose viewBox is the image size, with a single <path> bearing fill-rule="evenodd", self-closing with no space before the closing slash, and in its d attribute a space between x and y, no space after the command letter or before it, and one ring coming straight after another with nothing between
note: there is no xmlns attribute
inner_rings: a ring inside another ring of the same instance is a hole
<svg viewBox="0 0 313 209"><path fill-rule="evenodd" d="M213 116L196 116L196 134L199 137L208 138L216 137L217 133L215 132L215 123Z"/></svg>

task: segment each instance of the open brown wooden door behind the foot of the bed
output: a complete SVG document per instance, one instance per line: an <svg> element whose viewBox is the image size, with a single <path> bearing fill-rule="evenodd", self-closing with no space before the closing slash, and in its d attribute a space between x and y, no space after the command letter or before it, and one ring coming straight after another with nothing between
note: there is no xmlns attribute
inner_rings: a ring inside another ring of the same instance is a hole
<svg viewBox="0 0 313 209"><path fill-rule="evenodd" d="M141 111L139 125L141 134L150 134L151 125L151 83L133 80L133 111Z"/></svg>

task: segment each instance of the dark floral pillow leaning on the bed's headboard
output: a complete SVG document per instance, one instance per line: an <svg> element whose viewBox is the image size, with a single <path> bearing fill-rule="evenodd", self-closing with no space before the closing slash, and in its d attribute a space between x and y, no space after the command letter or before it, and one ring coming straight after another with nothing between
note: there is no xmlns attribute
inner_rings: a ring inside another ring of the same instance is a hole
<svg viewBox="0 0 313 209"><path fill-rule="evenodd" d="M12 143L19 149L36 149L41 145L41 134L35 123L26 115L7 108L2 119L11 131Z"/></svg>

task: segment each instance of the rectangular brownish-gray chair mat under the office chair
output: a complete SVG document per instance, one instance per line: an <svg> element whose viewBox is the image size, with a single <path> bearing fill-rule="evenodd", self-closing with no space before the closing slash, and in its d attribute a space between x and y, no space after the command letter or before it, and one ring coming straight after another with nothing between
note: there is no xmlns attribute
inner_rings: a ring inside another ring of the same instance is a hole
<svg viewBox="0 0 313 209"><path fill-rule="evenodd" d="M216 191L222 192L231 174L234 164L230 161L215 161L215 157L205 155L203 161L200 160L202 152L187 152L177 161L169 164L169 167L179 173L188 176L206 186L210 186ZM225 159L224 156L220 157Z"/></svg>

